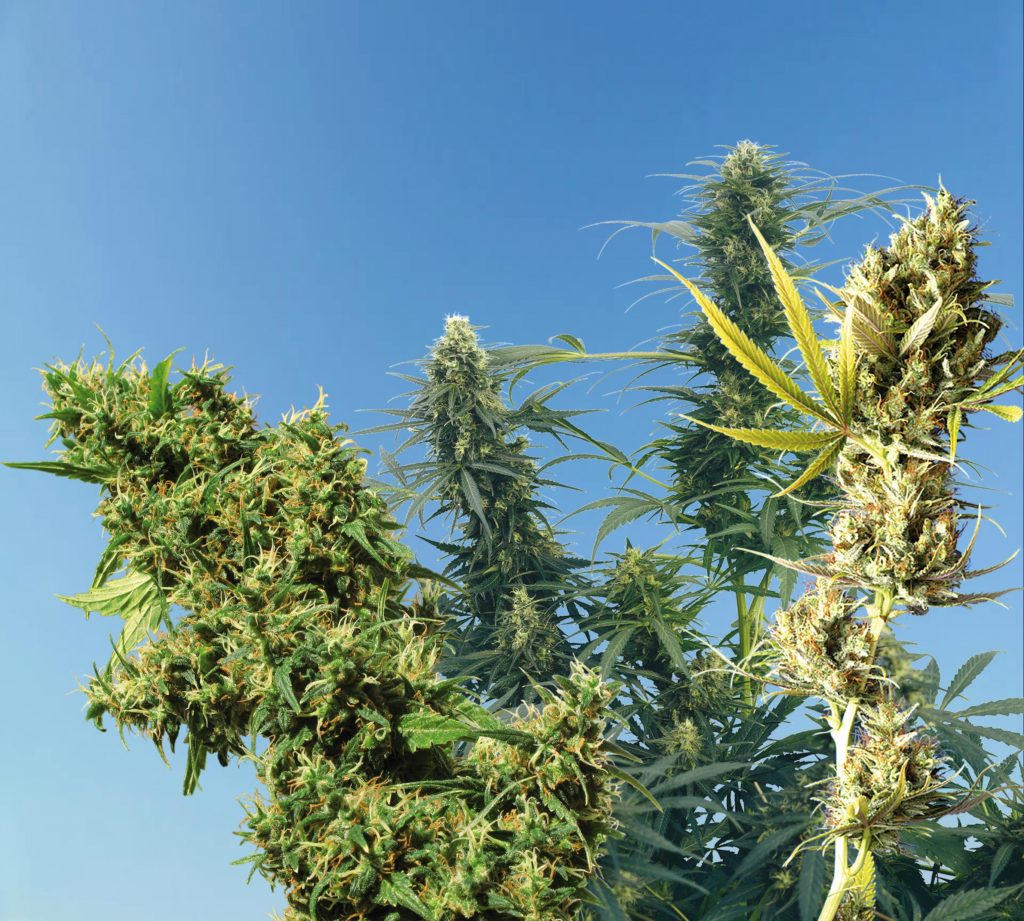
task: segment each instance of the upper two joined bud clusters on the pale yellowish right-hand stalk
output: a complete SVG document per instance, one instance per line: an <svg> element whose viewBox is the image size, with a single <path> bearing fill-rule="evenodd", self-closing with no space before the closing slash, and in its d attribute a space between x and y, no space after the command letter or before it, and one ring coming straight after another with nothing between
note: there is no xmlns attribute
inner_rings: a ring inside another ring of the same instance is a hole
<svg viewBox="0 0 1024 921"><path fill-rule="evenodd" d="M983 408L979 381L999 367L986 347L1001 326L980 298L968 202L944 190L888 249L871 248L842 290L860 357L851 428L889 459L880 470L848 443L836 476L845 506L834 567L855 584L894 593L914 613L954 603L964 564L952 464L961 420Z"/></svg>

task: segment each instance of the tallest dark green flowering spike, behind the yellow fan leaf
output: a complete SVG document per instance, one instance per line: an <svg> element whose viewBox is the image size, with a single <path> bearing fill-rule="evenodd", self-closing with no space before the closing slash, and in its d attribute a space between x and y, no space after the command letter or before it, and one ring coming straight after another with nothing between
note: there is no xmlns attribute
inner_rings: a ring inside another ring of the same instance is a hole
<svg viewBox="0 0 1024 921"><path fill-rule="evenodd" d="M684 190L695 209L692 216L671 226L694 250L683 264L697 268L699 284L714 292L723 312L734 321L742 318L751 339L771 351L785 337L785 317L748 216L784 261L798 247L819 242L826 221L870 208L880 199L840 201L837 208L824 200L834 181L801 175L796 164L752 141L741 141L715 166ZM784 264L794 271L792 264ZM809 271L810 266L801 274ZM725 425L763 425L769 416L776 425L793 421L770 393L749 385L742 366L702 316L667 336L664 347L685 355L697 380L694 386L668 386L657 392L687 405L692 418ZM668 423L667 428L669 434L648 450L669 464L676 502L683 508L695 502L696 517L714 539L739 524L741 512L750 510L749 489L735 487L749 484L752 473L772 471L775 458L757 446L737 443L684 419ZM723 491L723 487L733 489ZM782 505L776 514L785 511Z"/></svg>

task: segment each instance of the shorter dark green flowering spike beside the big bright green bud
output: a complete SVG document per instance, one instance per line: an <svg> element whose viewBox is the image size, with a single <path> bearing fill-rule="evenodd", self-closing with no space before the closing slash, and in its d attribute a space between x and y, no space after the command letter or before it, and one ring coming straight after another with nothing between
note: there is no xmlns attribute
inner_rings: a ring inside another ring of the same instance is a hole
<svg viewBox="0 0 1024 921"><path fill-rule="evenodd" d="M425 462L398 471L398 501L428 501L451 521L455 536L437 546L449 562L444 575L462 589L441 599L453 628L450 674L474 675L492 698L531 694L526 678L549 681L571 658L560 622L573 608L573 572L583 560L565 552L545 515L545 487L526 452L524 430L559 425L543 396L512 409L501 396L507 375L495 369L462 317L449 318L444 335L423 362L402 422L409 445L427 448Z"/></svg>

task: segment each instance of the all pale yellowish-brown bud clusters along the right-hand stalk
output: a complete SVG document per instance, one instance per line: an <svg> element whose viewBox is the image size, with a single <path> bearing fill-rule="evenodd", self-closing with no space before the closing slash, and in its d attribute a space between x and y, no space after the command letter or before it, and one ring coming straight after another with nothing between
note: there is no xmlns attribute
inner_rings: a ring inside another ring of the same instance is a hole
<svg viewBox="0 0 1024 921"><path fill-rule="evenodd" d="M983 306L988 285L975 275L978 241L968 206L945 190L928 199L889 248L868 249L840 292L856 354L848 422L854 434L836 463L842 500L826 560L831 579L873 592L873 601L865 620L822 617L814 599L848 596L822 588L820 579L811 600L778 616L773 633L781 683L857 716L847 748L854 724L840 722L834 710L840 754L825 814L836 835L860 841L860 860L898 850L903 826L942 814L952 801L942 792L935 742L896 702L879 638L897 605L924 614L932 604L970 599L956 593L970 575L970 547L957 546L956 443L968 412L991 410L998 388L986 392L986 382L997 385L1016 359L987 352L1001 321ZM830 366L837 379L842 347ZM882 680L868 680L872 674ZM870 874L856 875L836 897L844 891L839 918L874 917Z"/></svg>

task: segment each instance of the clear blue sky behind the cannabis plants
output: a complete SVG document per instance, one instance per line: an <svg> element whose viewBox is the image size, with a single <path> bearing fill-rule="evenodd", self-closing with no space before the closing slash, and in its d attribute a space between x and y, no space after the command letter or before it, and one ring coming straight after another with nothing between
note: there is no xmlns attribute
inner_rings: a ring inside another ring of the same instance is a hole
<svg viewBox="0 0 1024 921"><path fill-rule="evenodd" d="M627 313L616 286L648 270L647 241L598 261L602 233L580 227L670 216L679 183L644 176L741 138L831 173L941 174L979 202L982 268L1020 302L1021 29L1019 0L2 3L0 453L42 456L32 369L101 351L94 324L124 354L209 350L267 419L323 384L354 427L446 312L495 340L630 346L678 305ZM851 222L822 256L885 233ZM611 388L580 400L635 446L653 420L621 417ZM1008 539L989 530L986 560L1022 543L1021 427L994 427L967 449L1000 472ZM214 767L185 800L180 765L82 718L72 692L108 624L53 595L88 585L95 499L0 471L0 921L265 917L281 892L228 866L251 773ZM1022 582L1020 564L996 577ZM907 635L947 677L1006 651L977 698L1019 695L1009 603L935 611Z"/></svg>

